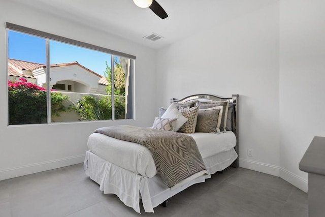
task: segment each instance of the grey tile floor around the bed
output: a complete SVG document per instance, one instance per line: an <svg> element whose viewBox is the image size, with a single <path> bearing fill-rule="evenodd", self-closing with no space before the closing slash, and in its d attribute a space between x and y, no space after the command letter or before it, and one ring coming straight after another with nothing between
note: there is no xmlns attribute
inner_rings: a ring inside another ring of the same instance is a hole
<svg viewBox="0 0 325 217"><path fill-rule="evenodd" d="M283 179L228 168L142 216L308 216L307 194ZM0 181L0 216L141 216L104 195L77 164Z"/></svg>

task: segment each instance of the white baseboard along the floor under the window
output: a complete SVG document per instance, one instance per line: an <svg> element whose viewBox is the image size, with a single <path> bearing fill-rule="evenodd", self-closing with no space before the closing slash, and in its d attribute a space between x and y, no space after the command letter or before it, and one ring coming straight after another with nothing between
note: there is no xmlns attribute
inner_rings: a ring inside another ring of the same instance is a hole
<svg viewBox="0 0 325 217"><path fill-rule="evenodd" d="M9 169L0 170L0 180L8 178L14 178L18 176L28 175L37 172L43 172L46 170L52 170L60 167L66 167L74 164L84 162L85 154L79 156L73 156L69 158L62 158L52 161L46 161L42 163L29 164L21 167L14 167Z"/></svg>

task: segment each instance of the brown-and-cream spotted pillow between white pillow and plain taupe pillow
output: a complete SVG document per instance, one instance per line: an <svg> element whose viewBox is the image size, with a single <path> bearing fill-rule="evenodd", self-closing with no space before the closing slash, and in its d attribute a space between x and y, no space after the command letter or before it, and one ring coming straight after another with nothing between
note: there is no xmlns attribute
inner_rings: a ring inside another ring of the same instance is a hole
<svg viewBox="0 0 325 217"><path fill-rule="evenodd" d="M197 106L192 108L179 108L179 112L187 118L184 125L178 130L181 133L195 133L195 128L197 126L199 108Z"/></svg>

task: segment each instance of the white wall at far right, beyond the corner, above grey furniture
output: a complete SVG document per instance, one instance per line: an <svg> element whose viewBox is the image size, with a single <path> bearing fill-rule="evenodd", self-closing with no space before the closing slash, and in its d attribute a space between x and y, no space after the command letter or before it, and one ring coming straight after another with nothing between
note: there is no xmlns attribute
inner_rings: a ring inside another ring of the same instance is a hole
<svg viewBox="0 0 325 217"><path fill-rule="evenodd" d="M308 176L299 162L313 137L325 136L324 9L323 0L280 1L281 177L300 188Z"/></svg>

